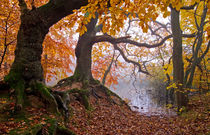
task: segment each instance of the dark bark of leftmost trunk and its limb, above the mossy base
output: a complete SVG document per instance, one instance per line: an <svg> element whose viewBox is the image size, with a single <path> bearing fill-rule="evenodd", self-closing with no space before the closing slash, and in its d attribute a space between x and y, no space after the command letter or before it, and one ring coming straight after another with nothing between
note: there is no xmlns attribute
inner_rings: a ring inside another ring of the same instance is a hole
<svg viewBox="0 0 210 135"><path fill-rule="evenodd" d="M18 74L27 85L34 80L44 82L41 66L42 43L49 28L63 17L72 14L74 9L87 3L87 0L50 0L39 8L29 10L25 1L19 0L21 25L15 60L9 74Z"/></svg>

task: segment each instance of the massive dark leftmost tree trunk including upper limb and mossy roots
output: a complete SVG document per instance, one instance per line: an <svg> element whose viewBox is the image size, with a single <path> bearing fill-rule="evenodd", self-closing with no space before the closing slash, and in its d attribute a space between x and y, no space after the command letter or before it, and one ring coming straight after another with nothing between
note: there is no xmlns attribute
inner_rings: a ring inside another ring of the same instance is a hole
<svg viewBox="0 0 210 135"><path fill-rule="evenodd" d="M53 24L86 4L87 0L50 0L39 8L29 10L25 1L19 0L21 25L18 31L15 61L10 73L5 77L9 85L15 89L18 110L22 108L25 89L28 88L36 90L36 93L56 109L55 98L43 85L42 43Z"/></svg>

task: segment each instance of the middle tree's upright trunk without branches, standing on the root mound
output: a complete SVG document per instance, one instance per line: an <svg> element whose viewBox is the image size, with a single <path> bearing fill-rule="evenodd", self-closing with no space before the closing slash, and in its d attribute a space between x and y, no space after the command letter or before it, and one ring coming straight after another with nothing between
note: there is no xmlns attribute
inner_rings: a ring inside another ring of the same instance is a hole
<svg viewBox="0 0 210 135"><path fill-rule="evenodd" d="M79 79L79 81L91 81L93 80L91 72L91 52L93 46L93 39L96 36L95 26L97 23L97 17L91 19L91 21L86 25L87 32L79 37L77 47L75 49L75 54L77 57L77 65L74 71L74 76Z"/></svg>

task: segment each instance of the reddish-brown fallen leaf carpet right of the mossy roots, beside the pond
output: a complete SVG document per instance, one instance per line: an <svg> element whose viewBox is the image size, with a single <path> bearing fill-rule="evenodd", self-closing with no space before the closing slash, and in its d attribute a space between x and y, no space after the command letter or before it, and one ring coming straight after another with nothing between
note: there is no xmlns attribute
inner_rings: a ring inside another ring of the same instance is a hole
<svg viewBox="0 0 210 135"><path fill-rule="evenodd" d="M69 120L69 128L78 135L189 135L209 132L207 127L210 118L202 116L206 114L205 111L199 113L196 119L145 116L132 112L125 106L110 105L105 100L98 102L90 114L78 102L71 103L74 115ZM195 107L198 110L200 108Z"/></svg>

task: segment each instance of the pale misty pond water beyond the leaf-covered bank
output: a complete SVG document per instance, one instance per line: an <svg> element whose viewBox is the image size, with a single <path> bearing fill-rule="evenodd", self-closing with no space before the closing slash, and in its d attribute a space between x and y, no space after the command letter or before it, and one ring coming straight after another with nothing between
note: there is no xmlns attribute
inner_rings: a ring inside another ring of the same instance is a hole
<svg viewBox="0 0 210 135"><path fill-rule="evenodd" d="M127 78L129 79L129 78ZM159 93L156 88L153 88L148 81L142 80L135 83L135 89L132 84L121 80L113 92L117 93L121 98L130 100L129 105L133 111L138 111L144 115L160 115L173 116L176 113L173 110L167 109L162 103L165 103L164 94ZM161 88L162 89L162 88ZM160 97L160 95L162 97ZM155 99L161 99L155 100Z"/></svg>

